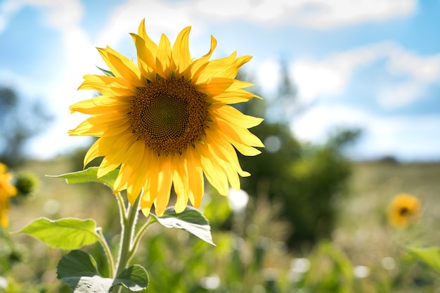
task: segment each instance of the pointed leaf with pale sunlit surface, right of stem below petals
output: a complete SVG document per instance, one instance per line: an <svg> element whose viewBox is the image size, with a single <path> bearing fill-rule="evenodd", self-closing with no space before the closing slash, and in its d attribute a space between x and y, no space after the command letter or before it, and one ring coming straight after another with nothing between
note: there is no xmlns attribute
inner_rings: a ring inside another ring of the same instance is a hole
<svg viewBox="0 0 440 293"><path fill-rule="evenodd" d="M187 230L189 233L199 237L201 240L214 245L212 242L211 227L205 216L193 207L186 207L184 211L177 214L174 207L165 209L163 216L152 214L162 226L167 228L178 228Z"/></svg>

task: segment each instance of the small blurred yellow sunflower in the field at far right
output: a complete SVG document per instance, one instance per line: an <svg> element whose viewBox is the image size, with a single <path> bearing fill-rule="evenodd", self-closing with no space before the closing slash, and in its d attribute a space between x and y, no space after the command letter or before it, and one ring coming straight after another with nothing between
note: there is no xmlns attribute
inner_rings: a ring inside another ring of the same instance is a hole
<svg viewBox="0 0 440 293"><path fill-rule="evenodd" d="M388 208L389 223L396 228L406 228L420 216L420 200L413 195L399 194L393 197Z"/></svg>

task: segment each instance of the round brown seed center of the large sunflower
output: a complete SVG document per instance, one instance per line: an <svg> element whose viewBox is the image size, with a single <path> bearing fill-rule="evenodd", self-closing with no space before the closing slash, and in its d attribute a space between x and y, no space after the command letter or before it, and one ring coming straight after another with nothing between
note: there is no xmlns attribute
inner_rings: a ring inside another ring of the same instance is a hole
<svg viewBox="0 0 440 293"><path fill-rule="evenodd" d="M131 129L157 155L181 153L205 134L205 97L183 78L157 77L131 100Z"/></svg>

